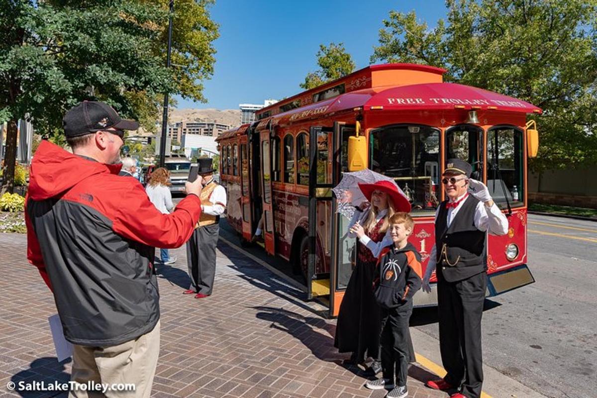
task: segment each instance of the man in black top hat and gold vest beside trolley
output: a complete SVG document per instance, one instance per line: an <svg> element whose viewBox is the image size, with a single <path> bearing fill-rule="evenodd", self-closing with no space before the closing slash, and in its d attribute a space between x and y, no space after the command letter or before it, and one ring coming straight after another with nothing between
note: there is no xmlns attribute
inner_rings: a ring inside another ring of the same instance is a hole
<svg viewBox="0 0 597 398"><path fill-rule="evenodd" d="M226 210L226 190L214 181L213 162L199 158L198 174L203 177L201 190L201 218L195 232L187 242L190 288L183 294L195 294L195 298L211 295L216 276L216 245L220 234L220 215Z"/></svg>

